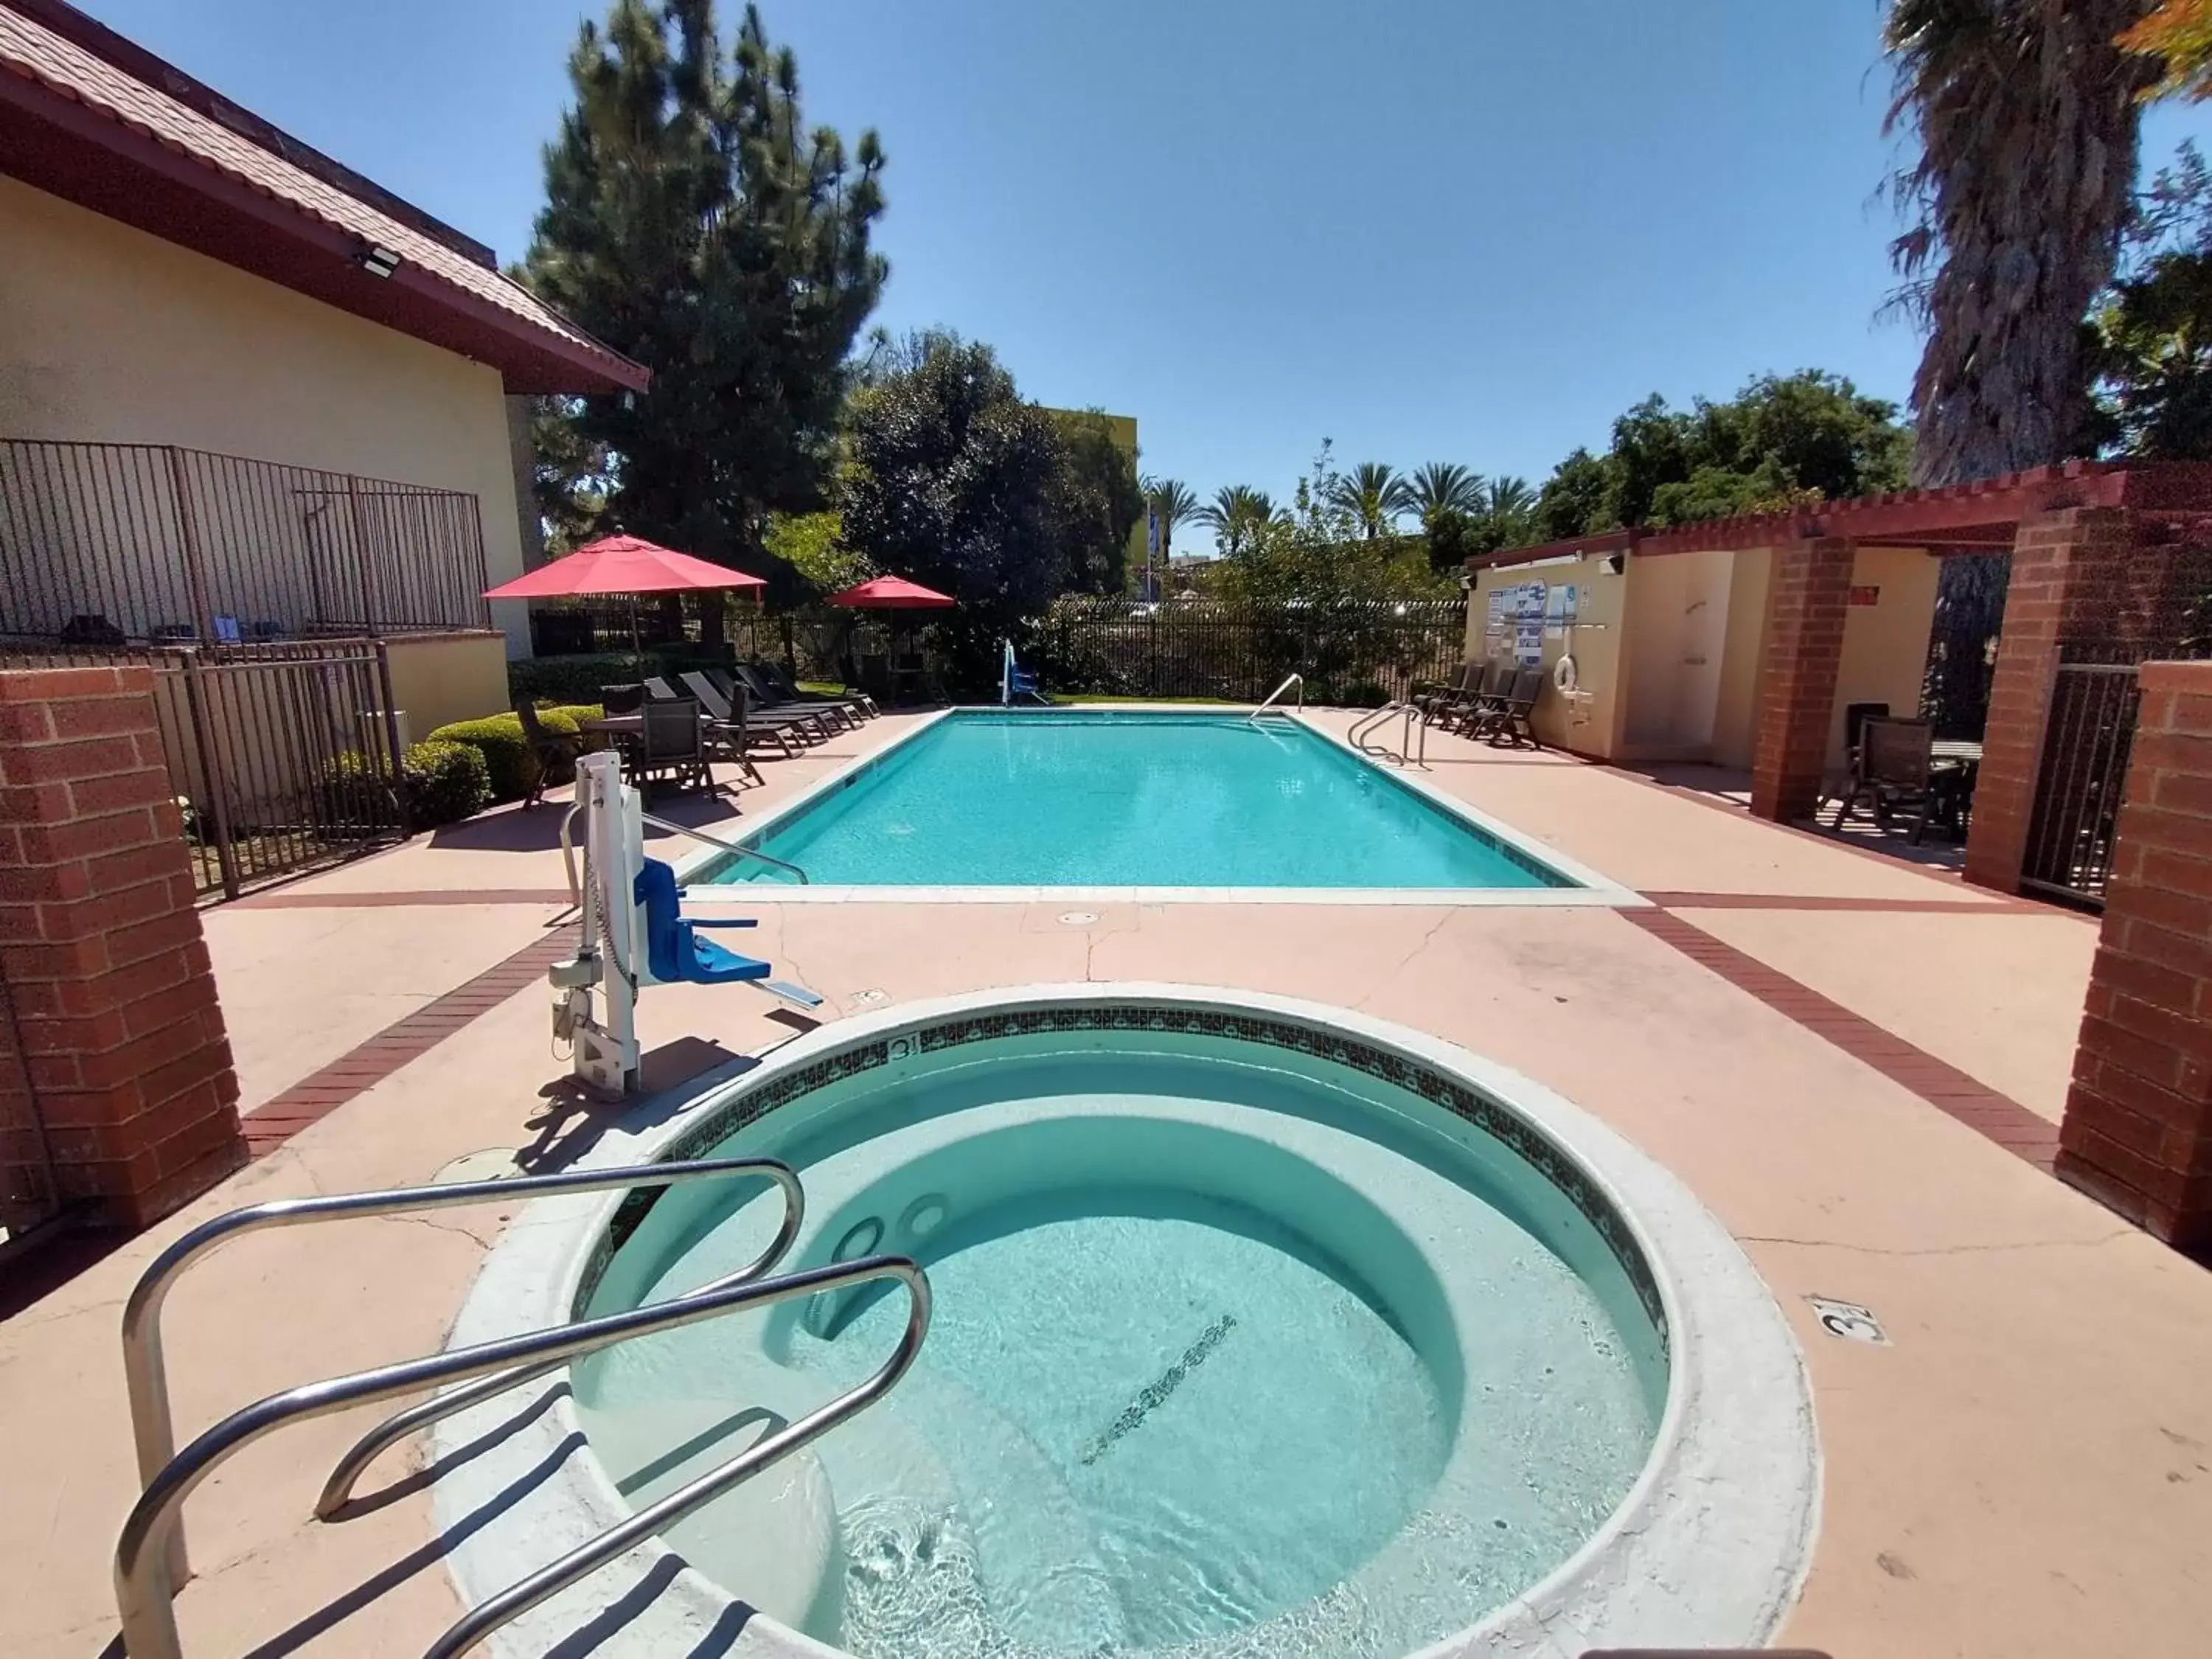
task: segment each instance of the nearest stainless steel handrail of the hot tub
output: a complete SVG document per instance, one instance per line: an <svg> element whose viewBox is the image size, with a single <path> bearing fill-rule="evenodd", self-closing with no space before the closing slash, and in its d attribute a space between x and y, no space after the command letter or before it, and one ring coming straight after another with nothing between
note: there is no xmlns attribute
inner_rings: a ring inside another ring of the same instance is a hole
<svg viewBox="0 0 2212 1659"><path fill-rule="evenodd" d="M148 1482L137 1504L131 1506L131 1515L124 1520L122 1537L115 1542L115 1606L122 1617L124 1652L131 1655L131 1659L184 1659L177 1637L177 1613L170 1606L175 1586L168 1582L166 1571L168 1540L175 1537L179 1526L177 1511L201 1480L261 1436L272 1433L274 1429L281 1429L299 1418L321 1418L356 1405L414 1394L416 1389L431 1387L436 1383L509 1371L518 1365L571 1360L580 1354L597 1352L630 1336L650 1336L655 1332L677 1329L681 1325L692 1325L741 1307L768 1307L772 1303L790 1301L792 1296L812 1296L823 1290L838 1290L869 1279L898 1279L907 1285L907 1292L914 1298L914 1310L907 1316L907 1332L900 1338L898 1349L874 1378L838 1396L812 1416L801 1418L781 1433L761 1440L721 1469L695 1480L677 1493L670 1493L657 1504L650 1504L580 1551L553 1562L553 1566L533 1573L522 1584L495 1595L484 1606L471 1610L431 1648L434 1655L456 1655L476 1646L507 1619L535 1606L549 1595L555 1595L560 1588L593 1571L602 1562L613 1559L655 1526L688 1515L692 1509L728 1491L745 1475L752 1475L776 1458L796 1451L814 1436L836 1427L860 1407L880 1398L883 1391L898 1383L907 1367L914 1365L914 1356L922 1347L922 1336L929 1332L929 1281L922 1276L922 1270L905 1256L867 1256L852 1263L832 1263L830 1267L785 1274L783 1279L728 1285L723 1290L697 1292L668 1303L653 1303L650 1307L630 1307L619 1314L606 1314L575 1325L560 1325L549 1332L502 1336L491 1343L476 1343L473 1347L460 1347L447 1354L400 1360L398 1365L378 1365L369 1371L354 1371L352 1376L338 1376L325 1383L303 1383L294 1389L272 1394L265 1400L257 1400L241 1411L232 1411L177 1453L153 1478L153 1482ZM611 1546L608 1540L619 1540L619 1546Z"/></svg>

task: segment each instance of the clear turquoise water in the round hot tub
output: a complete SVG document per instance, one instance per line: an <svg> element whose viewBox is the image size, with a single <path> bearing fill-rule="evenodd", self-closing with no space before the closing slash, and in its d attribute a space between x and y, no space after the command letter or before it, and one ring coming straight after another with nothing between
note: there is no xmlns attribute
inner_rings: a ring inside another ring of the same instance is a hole
<svg viewBox="0 0 2212 1659"><path fill-rule="evenodd" d="M1146 1033L916 1055L730 1135L807 1186L794 1265L916 1256L916 1369L748 1509L670 1542L860 1659L1396 1659L1619 1504L1661 1338L1564 1194L1464 1119L1325 1060ZM684 1188L593 1310L734 1270L776 1203ZM641 1502L905 1323L845 1292L608 1349L577 1409Z"/></svg>

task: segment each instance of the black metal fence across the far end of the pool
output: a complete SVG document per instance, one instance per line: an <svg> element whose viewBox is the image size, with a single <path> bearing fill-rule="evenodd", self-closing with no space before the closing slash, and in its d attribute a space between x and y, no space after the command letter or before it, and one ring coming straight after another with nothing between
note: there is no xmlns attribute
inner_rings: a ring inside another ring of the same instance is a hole
<svg viewBox="0 0 2212 1659"><path fill-rule="evenodd" d="M1467 653L1467 602L1062 599L1033 650L1055 692L1256 703L1298 672L1307 701L1374 706L1451 677Z"/></svg>

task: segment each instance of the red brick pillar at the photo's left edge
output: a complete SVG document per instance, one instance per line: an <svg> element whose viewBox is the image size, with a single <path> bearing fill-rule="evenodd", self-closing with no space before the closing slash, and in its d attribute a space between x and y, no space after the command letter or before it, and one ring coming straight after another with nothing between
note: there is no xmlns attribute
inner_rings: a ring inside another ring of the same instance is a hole
<svg viewBox="0 0 2212 1659"><path fill-rule="evenodd" d="M0 1188L44 1152L62 1203L137 1228L246 1161L192 900L153 670L0 672L0 1091L27 1068L44 1124L7 1119Z"/></svg>

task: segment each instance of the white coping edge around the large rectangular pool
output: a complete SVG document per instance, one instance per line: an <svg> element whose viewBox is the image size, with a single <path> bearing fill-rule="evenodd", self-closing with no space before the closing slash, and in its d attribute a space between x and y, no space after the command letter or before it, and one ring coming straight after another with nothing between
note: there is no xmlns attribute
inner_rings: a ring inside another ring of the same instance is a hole
<svg viewBox="0 0 2212 1659"><path fill-rule="evenodd" d="M898 754L898 750L918 741L925 732L933 730L940 721L953 719L956 714L1115 714L1115 717L1214 717L1221 714L1252 714L1248 703L1055 703L1053 708L1002 708L998 703L956 703L951 708L940 708L909 730L900 732L896 739L885 743L880 750L860 754L836 772L816 779L805 790L794 794L790 801L779 803L770 812L761 814L757 821L748 823L737 832L737 841L752 845L761 836L772 834L781 823L796 818L807 812L821 796L832 790L845 787L845 783L860 772L883 765L887 759ZM956 885L914 885L914 887L878 887L878 885L832 885L832 883L807 883L807 885L785 885L785 883L703 883L706 869L712 869L732 858L732 854L717 847L695 847L675 860L675 872L679 883L699 883L690 887L686 898L692 905L1420 905L1420 907L1511 907L1511 905L1537 905L1537 907L1559 907L1559 909L1644 909L1650 905L1648 898L1626 887L1624 883L1604 876L1582 860L1548 847L1531 836L1522 834L1513 825L1493 818L1480 807L1469 805L1451 794L1444 794L1425 779L1407 776L1402 770L1391 770L1378 765L1371 754L1363 754L1340 734L1316 726L1305 717L1305 710L1274 710L1279 719L1294 721L1305 732L1312 732L1321 741L1352 754L1363 765L1374 768L1380 776L1389 779L1398 787L1416 794L1427 805L1438 812L1460 821L1462 825L1511 847L1522 858L1535 860L1546 869L1566 876L1573 887L1137 887L1137 885L1104 885L1104 887L956 887Z"/></svg>

